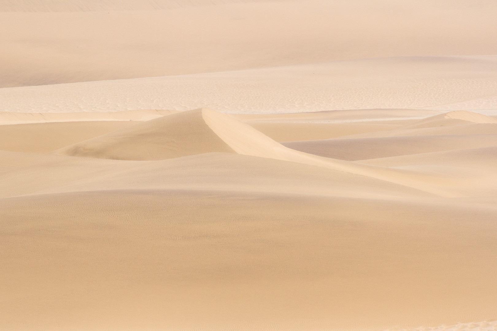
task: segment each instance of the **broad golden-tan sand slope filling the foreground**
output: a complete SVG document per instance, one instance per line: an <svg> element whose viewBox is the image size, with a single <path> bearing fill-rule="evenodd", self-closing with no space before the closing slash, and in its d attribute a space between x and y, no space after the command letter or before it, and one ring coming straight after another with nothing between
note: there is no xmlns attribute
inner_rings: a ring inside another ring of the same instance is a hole
<svg viewBox="0 0 497 331"><path fill-rule="evenodd" d="M497 309L496 209L163 190L0 205L5 330L414 328Z"/></svg>

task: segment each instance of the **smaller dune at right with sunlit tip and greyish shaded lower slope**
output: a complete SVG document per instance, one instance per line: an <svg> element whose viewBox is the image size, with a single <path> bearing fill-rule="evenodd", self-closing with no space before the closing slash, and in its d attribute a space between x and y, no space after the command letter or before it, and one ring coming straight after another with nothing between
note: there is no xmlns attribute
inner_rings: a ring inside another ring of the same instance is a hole
<svg viewBox="0 0 497 331"><path fill-rule="evenodd" d="M283 145L306 153L348 161L496 145L495 134L461 134L463 132L459 131L461 127L473 124L491 124L485 127L491 132L497 129L497 120L493 117L453 111L397 126L392 130L352 134L338 139L291 141L284 142ZM442 128L451 130L444 132ZM438 134L430 135L429 131L422 129L435 129ZM419 131L424 134L419 134Z"/></svg>

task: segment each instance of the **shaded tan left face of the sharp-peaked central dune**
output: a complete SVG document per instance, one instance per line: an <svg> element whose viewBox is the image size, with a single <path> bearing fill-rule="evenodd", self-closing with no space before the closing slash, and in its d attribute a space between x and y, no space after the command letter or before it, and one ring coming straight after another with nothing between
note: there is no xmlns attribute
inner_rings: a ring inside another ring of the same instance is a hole
<svg viewBox="0 0 497 331"><path fill-rule="evenodd" d="M55 151L116 160L164 160L209 152L234 152L205 123L202 109L172 114Z"/></svg>

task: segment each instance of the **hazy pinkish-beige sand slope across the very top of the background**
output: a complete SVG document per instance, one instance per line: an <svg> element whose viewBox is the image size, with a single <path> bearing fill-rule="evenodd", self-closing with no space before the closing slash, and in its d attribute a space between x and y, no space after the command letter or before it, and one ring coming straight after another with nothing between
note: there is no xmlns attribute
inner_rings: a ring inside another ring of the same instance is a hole
<svg viewBox="0 0 497 331"><path fill-rule="evenodd" d="M495 55L496 13L493 0L3 0L0 86ZM222 110L188 109L204 106Z"/></svg>

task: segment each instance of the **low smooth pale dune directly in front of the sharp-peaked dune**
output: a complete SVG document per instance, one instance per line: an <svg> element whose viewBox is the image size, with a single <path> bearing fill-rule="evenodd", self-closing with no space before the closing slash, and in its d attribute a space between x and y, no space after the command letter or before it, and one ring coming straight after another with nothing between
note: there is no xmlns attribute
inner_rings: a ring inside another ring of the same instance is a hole
<svg viewBox="0 0 497 331"><path fill-rule="evenodd" d="M234 153L117 161L0 152L1 197L108 190L258 192L365 199L432 198L425 192L323 167Z"/></svg>

